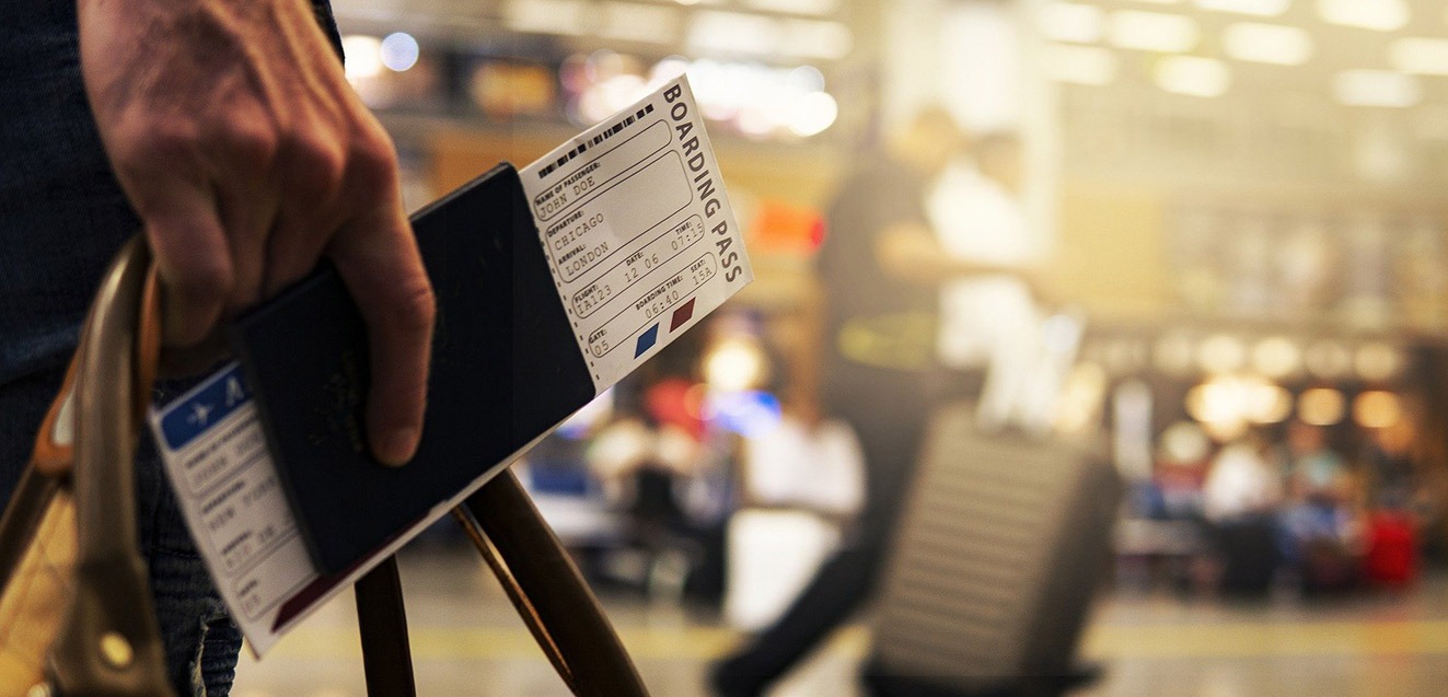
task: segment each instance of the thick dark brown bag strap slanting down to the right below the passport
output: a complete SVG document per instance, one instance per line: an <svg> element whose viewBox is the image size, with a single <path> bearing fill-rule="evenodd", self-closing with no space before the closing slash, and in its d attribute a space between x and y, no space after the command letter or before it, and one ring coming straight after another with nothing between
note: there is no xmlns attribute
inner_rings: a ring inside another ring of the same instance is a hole
<svg viewBox="0 0 1448 697"><path fill-rule="evenodd" d="M482 533L473 543L484 558L495 554L501 562L489 565L510 596L517 594L514 604L573 694L647 697L613 623L517 475L504 469L462 509L463 527Z"/></svg>

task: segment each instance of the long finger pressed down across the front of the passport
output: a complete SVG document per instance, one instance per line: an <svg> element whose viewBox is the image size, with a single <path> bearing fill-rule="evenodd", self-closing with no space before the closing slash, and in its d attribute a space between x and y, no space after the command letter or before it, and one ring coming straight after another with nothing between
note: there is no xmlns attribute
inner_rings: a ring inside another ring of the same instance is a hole
<svg viewBox="0 0 1448 697"><path fill-rule="evenodd" d="M411 228L398 206L384 206L343 225L327 254L368 326L372 454L384 464L405 464L421 438L436 313Z"/></svg>

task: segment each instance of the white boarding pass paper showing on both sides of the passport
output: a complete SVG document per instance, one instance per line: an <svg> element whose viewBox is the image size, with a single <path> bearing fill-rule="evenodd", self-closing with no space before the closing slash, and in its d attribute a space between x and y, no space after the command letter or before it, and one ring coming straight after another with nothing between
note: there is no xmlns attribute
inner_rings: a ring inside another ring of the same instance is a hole
<svg viewBox="0 0 1448 697"><path fill-rule="evenodd" d="M520 177L597 391L753 280L683 77ZM485 483L439 504L363 564L326 577L308 556L239 365L152 409L149 420L197 548L258 655Z"/></svg>

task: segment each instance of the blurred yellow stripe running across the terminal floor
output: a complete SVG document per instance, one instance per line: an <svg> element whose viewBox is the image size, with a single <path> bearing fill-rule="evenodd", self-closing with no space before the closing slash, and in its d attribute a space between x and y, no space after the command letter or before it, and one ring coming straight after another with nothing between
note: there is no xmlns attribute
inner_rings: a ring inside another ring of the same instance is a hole
<svg viewBox="0 0 1448 697"><path fill-rule="evenodd" d="M707 661L740 639L733 629L698 626L623 627L620 635L639 659ZM418 661L543 659L521 627L413 627L411 643ZM869 646L869 629L854 625L837 632L825 651L862 658ZM1448 654L1448 620L1093 626L1086 632L1083 651L1093 658L1436 655ZM355 659L359 655L355 629L303 626L268 656Z"/></svg>

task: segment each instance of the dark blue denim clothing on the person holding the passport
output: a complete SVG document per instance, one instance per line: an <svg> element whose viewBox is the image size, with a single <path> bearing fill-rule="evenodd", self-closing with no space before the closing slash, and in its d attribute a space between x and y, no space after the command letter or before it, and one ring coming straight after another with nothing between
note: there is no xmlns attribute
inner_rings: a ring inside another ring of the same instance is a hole
<svg viewBox="0 0 1448 697"><path fill-rule="evenodd" d="M314 4L336 43L330 10ZM0 28L0 501L9 501L91 294L139 220L85 100L74 0L3 0ZM181 696L222 697L242 639L142 441L139 542L171 680Z"/></svg>

